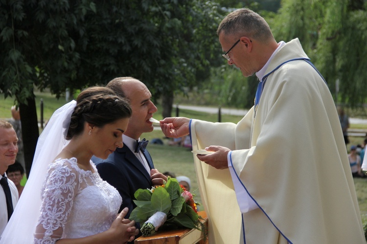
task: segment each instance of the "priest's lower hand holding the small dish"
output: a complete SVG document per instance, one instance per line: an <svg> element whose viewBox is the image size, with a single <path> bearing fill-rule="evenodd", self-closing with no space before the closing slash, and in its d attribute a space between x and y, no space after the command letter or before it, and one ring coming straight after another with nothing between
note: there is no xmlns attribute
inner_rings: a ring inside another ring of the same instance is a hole
<svg viewBox="0 0 367 244"><path fill-rule="evenodd" d="M197 157L200 161L203 161L216 169L228 168L227 155L230 149L224 146L208 146L206 151L213 151L214 153L208 155L198 154Z"/></svg>

